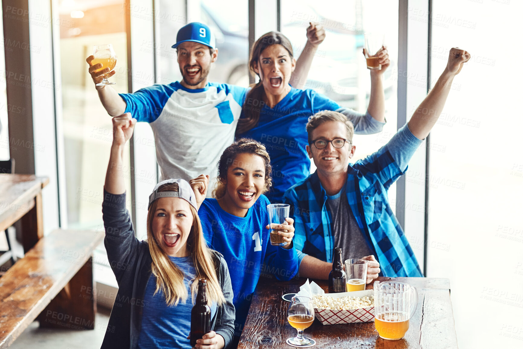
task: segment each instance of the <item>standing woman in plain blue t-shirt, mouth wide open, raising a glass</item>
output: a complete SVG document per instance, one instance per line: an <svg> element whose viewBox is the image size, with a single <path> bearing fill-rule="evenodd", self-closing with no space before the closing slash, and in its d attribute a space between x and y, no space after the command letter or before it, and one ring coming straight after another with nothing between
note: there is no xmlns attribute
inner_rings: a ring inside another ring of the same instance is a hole
<svg viewBox="0 0 523 349"><path fill-rule="evenodd" d="M249 70L258 75L259 82L247 93L236 127L236 138L252 138L267 147L273 173L273 186L267 193L271 202L282 202L285 190L309 176L311 161L305 150L309 144L305 125L316 112L342 112L354 123L357 134L381 132L385 124L383 72L390 61L385 47L377 56L382 68L370 73L369 107L362 114L341 108L312 89L289 85L296 60L289 39L282 33L268 32L253 44Z"/></svg>

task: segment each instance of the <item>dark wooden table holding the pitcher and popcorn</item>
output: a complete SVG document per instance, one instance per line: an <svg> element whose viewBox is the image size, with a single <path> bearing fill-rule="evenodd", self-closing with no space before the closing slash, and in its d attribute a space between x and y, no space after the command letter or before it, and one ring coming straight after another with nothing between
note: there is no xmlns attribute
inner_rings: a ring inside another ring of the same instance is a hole
<svg viewBox="0 0 523 349"><path fill-rule="evenodd" d="M457 348L456 330L450 302L448 279L423 277L379 277L378 280L406 282L418 289L419 301L405 338L385 341L378 336L374 322L322 325L314 320L304 335L316 341L315 348ZM310 280L312 281L312 280ZM313 280L327 291L326 280ZM289 302L281 299L299 291L305 279L277 282L260 279L256 288L238 349L286 348L297 331L287 321ZM372 289L367 285L367 289Z"/></svg>

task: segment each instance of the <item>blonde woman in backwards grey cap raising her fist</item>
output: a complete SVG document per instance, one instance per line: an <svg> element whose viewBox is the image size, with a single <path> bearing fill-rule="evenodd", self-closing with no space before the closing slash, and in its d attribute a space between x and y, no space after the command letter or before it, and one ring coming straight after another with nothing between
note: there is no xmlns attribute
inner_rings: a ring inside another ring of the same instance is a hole
<svg viewBox="0 0 523 349"><path fill-rule="evenodd" d="M186 181L168 179L156 185L149 198L147 240L134 237L120 169L135 123L129 113L112 119L102 212L105 247L119 289L101 347L190 348L190 311L203 278L212 331L196 348L221 349L234 332L231 278L221 255L207 248L195 195Z"/></svg>

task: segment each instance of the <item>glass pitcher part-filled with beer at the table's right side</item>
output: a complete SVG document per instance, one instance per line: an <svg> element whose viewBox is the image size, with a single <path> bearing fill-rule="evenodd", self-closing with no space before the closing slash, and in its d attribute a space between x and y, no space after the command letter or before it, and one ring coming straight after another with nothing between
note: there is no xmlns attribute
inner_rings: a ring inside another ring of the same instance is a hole
<svg viewBox="0 0 523 349"><path fill-rule="evenodd" d="M418 291L409 284L374 282L374 325L382 339L399 340L418 305Z"/></svg>

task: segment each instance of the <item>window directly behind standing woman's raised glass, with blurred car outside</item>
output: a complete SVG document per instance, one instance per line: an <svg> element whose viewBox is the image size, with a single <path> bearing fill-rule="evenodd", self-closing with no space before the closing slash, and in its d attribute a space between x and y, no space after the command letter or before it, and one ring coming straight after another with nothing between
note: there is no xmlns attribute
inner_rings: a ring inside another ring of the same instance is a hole
<svg viewBox="0 0 523 349"><path fill-rule="evenodd" d="M377 10L379 8L379 10ZM396 1L282 0L281 31L292 42L299 57L306 42L309 22L318 22L326 31L325 40L314 53L305 88L312 88L333 99L340 106L365 112L370 97L370 71L362 49L363 33L382 31L389 50L390 66L384 73L385 118L383 131L372 136L354 136L354 161L377 151L396 133L397 97L393 72L397 70L398 4ZM312 163L312 170L314 164ZM395 209L396 186L389 189Z"/></svg>

